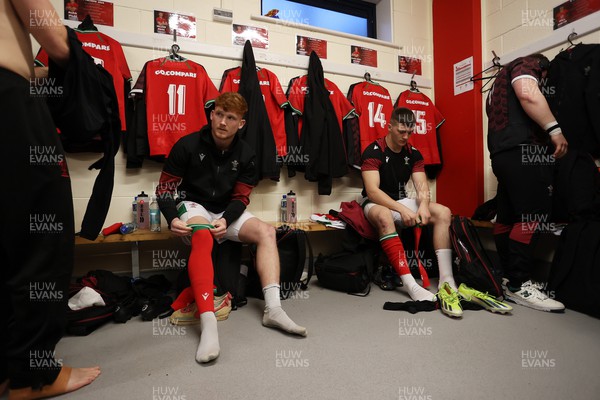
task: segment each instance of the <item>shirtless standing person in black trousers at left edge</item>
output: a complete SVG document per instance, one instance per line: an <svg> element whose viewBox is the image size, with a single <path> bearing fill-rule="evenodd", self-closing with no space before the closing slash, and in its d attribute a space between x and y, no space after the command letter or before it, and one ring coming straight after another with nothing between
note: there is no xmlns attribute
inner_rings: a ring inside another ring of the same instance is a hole
<svg viewBox="0 0 600 400"><path fill-rule="evenodd" d="M34 399L77 390L100 369L71 368L54 354L73 270L73 198L56 128L35 95L29 34L64 66L67 31L47 0L0 0L0 27L0 155L9 166L0 176L6 192L20 188L16 205L0 196L1 209L12 210L0 240L0 395L8 386L10 399Z"/></svg>

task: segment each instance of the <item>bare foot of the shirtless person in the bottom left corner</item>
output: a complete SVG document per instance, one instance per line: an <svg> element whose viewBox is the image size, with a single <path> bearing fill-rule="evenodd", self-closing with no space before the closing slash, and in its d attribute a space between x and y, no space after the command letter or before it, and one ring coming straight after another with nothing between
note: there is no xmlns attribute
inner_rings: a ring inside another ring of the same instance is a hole
<svg viewBox="0 0 600 400"><path fill-rule="evenodd" d="M43 386L41 390L29 388L12 389L9 391L9 400L31 400L54 397L64 393L73 392L89 385L100 375L100 367L71 368L63 366L58 377L51 385Z"/></svg>

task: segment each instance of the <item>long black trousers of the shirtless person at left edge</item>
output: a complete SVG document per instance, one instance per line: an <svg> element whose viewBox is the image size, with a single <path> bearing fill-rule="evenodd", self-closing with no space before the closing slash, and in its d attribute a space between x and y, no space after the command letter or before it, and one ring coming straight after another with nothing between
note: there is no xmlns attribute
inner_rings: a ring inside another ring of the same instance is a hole
<svg viewBox="0 0 600 400"><path fill-rule="evenodd" d="M52 353L73 270L73 198L45 100L3 68L0 82L0 374L19 388L52 383L60 371Z"/></svg>

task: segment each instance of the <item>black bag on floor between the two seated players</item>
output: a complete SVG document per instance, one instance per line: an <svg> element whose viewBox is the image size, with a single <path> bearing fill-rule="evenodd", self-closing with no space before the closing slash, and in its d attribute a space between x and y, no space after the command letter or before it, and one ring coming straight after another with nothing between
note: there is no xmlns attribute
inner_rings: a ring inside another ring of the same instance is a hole
<svg viewBox="0 0 600 400"><path fill-rule="evenodd" d="M342 251L330 256L319 254L315 272L321 286L356 296L371 291L375 252L365 246L356 252Z"/></svg>

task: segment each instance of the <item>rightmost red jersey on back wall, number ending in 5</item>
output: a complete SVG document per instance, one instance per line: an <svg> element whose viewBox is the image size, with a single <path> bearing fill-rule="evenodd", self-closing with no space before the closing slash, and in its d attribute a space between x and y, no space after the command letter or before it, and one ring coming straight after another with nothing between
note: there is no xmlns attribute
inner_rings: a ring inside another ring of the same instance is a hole
<svg viewBox="0 0 600 400"><path fill-rule="evenodd" d="M394 107L406 107L415 114L415 131L408 143L419 149L425 165L441 164L436 129L446 120L433 101L421 92L405 90Z"/></svg>

